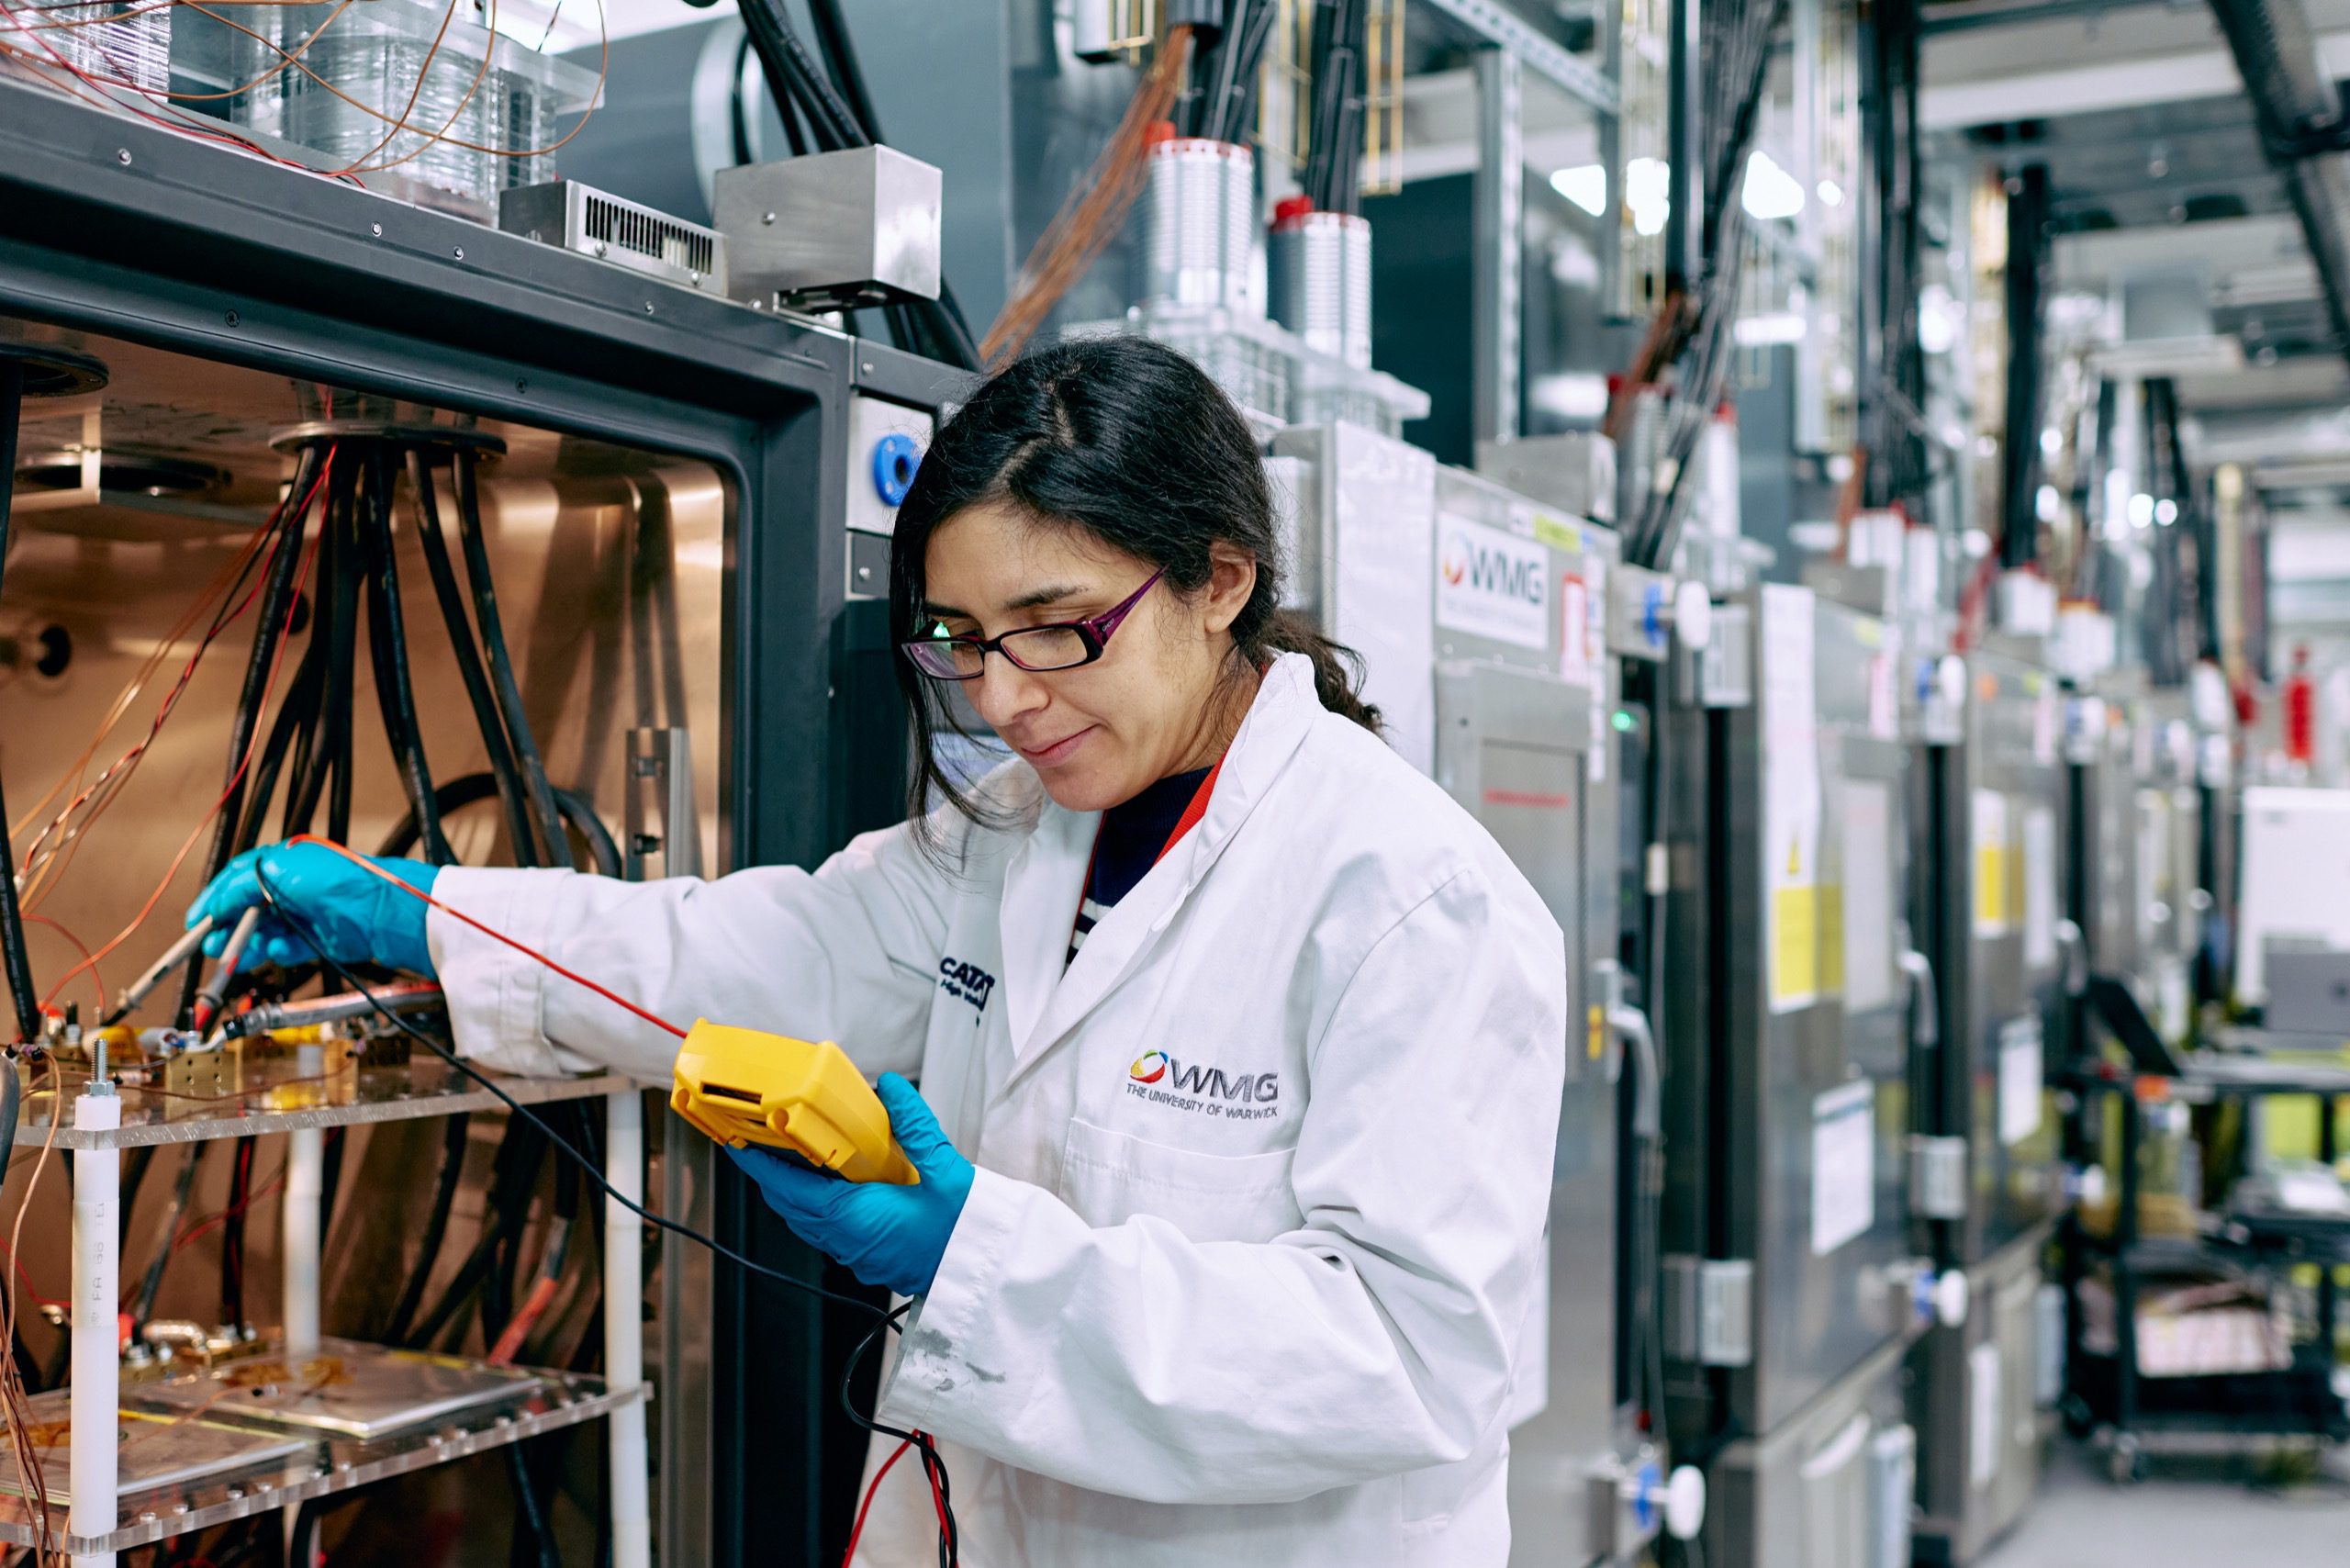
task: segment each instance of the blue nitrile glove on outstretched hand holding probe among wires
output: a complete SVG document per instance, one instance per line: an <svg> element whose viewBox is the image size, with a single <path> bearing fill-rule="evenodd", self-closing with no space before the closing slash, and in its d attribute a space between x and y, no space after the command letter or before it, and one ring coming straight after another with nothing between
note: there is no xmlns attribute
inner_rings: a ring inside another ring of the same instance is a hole
<svg viewBox="0 0 2350 1568"><path fill-rule="evenodd" d="M430 893L437 865L423 860L374 860L409 886ZM294 926L270 912L261 896L261 877L270 893L294 912L306 931L317 936L336 964L383 964L414 976L432 973L432 950L425 945L425 900L411 898L383 877L371 877L324 844L266 844L247 849L212 879L193 905L186 924L212 917L204 952L221 957L228 933L247 910L261 907L254 940L244 945L240 969L277 964L291 969L315 957Z"/></svg>

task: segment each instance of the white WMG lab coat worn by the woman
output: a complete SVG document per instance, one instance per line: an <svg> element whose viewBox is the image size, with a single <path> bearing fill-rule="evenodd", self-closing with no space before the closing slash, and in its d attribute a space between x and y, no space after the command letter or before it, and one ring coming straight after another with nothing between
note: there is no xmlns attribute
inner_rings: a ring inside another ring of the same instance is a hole
<svg viewBox="0 0 2350 1568"><path fill-rule="evenodd" d="M1502 849L1278 658L1201 825L1062 969L1093 813L808 875L446 870L674 1020L916 1074L978 1166L881 1418L945 1439L971 1568L1499 1568L1506 1396L1565 1072L1565 943ZM442 914L458 1046L665 1084L674 1041ZM933 1561L919 1467L860 1561Z"/></svg>

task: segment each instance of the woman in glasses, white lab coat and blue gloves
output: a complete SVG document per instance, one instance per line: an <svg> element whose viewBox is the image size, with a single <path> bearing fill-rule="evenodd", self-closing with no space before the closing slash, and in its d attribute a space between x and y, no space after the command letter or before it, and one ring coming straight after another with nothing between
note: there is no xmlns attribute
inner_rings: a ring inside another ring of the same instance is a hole
<svg viewBox="0 0 2350 1568"><path fill-rule="evenodd" d="M919 1185L738 1159L921 1298L879 1415L945 1439L975 1568L1509 1556L1565 945L1278 602L1222 393L1152 343L1048 348L938 433L898 515L935 809L813 875L432 884L658 1013L886 1072ZM971 788L935 762L956 691L1015 752ZM611 1004L324 849L258 853L338 959L435 971L475 1058L667 1081L674 1041ZM190 919L256 898L247 860ZM275 922L263 950L306 952ZM860 1561L928 1561L916 1467L884 1497L909 1554L874 1526Z"/></svg>

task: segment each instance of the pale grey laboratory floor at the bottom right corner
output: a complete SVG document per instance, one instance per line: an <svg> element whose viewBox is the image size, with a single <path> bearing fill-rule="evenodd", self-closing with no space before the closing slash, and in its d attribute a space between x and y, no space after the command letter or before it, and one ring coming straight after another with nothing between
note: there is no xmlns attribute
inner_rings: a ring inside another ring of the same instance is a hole
<svg viewBox="0 0 2350 1568"><path fill-rule="evenodd" d="M2341 1563L2350 1554L2350 1450L2282 1469L2157 1458L2136 1486L2113 1486L2096 1460L2059 1441L2030 1512L1979 1568Z"/></svg>

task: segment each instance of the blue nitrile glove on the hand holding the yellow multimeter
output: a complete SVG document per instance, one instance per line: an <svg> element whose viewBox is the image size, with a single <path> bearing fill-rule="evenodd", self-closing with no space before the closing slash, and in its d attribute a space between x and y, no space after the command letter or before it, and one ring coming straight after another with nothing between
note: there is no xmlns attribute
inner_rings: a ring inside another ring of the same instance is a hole
<svg viewBox="0 0 2350 1568"><path fill-rule="evenodd" d="M801 1241L846 1262L870 1286L924 1295L971 1197L971 1161L954 1152L938 1117L902 1077L884 1072L874 1091L898 1147L921 1175L912 1187L841 1180L757 1145L726 1152Z"/></svg>

